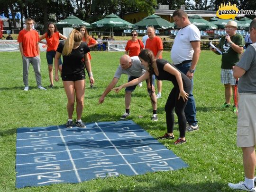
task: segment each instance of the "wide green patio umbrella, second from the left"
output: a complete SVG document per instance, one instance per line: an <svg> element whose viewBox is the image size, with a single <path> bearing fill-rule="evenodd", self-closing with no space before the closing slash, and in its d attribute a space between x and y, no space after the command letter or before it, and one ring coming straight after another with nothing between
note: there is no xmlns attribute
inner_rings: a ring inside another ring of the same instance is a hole
<svg viewBox="0 0 256 192"><path fill-rule="evenodd" d="M120 17L110 14L103 19L96 21L91 24L93 28L102 28L102 29L127 29L127 28L134 28L135 26L129 23L126 20L121 19Z"/></svg>

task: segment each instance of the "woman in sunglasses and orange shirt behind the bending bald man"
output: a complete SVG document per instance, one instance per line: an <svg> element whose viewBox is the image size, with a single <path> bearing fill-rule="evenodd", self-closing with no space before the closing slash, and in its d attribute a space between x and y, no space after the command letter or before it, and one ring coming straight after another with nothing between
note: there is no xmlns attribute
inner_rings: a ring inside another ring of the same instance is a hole
<svg viewBox="0 0 256 192"><path fill-rule="evenodd" d="M138 33L136 30L132 30L131 37L125 47L125 54L130 57L138 56L141 50L144 50L144 44L140 39L137 39ZM129 52L129 54L128 54ZM128 76L129 78L129 76ZM142 87L142 82L138 84L139 87Z"/></svg>

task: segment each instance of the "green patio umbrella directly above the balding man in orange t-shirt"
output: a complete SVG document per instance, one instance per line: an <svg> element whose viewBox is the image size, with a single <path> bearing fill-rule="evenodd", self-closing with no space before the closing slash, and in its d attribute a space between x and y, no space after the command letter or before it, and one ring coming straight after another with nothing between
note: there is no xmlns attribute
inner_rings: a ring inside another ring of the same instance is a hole
<svg viewBox="0 0 256 192"><path fill-rule="evenodd" d="M174 24L155 14L145 17L134 25L141 29L146 29L147 26L154 26L154 28L158 30L174 28Z"/></svg>

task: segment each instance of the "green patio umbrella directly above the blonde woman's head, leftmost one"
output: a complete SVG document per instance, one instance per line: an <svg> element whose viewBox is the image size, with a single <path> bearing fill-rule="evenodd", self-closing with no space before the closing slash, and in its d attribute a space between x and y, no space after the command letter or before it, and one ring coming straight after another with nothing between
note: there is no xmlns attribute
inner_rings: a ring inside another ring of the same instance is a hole
<svg viewBox="0 0 256 192"><path fill-rule="evenodd" d="M78 17L75 16L69 16L67 18L65 18L62 21L59 21L58 23L56 23L57 28L63 28L63 27L80 27L82 25L85 25L86 28L90 28L91 26L89 23L79 19Z"/></svg>

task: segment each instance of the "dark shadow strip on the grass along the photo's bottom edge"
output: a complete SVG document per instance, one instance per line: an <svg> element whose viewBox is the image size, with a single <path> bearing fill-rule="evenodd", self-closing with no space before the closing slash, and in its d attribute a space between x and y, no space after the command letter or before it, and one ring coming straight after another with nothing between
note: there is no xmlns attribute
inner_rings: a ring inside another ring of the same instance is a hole
<svg viewBox="0 0 256 192"><path fill-rule="evenodd" d="M147 180L144 181L145 183L148 182ZM149 184L152 185L152 184ZM222 192L222 191L230 191L232 190L228 188L227 184L221 183L195 183L195 184L188 184L188 183L180 183L180 184L168 184L166 182L157 182L154 183L153 186L128 186L123 187L121 189L117 189L116 187L109 187L97 192ZM85 192L81 190L80 192Z"/></svg>

